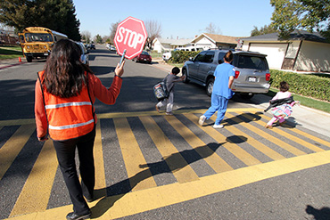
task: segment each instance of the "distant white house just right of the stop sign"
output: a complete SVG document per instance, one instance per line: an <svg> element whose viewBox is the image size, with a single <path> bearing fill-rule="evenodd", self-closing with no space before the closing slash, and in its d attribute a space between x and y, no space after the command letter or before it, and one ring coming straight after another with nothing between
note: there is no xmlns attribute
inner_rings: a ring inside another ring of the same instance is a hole
<svg viewBox="0 0 330 220"><path fill-rule="evenodd" d="M156 37L153 40L153 50L158 53L172 51L178 47L186 47L191 45L192 39L162 39Z"/></svg>

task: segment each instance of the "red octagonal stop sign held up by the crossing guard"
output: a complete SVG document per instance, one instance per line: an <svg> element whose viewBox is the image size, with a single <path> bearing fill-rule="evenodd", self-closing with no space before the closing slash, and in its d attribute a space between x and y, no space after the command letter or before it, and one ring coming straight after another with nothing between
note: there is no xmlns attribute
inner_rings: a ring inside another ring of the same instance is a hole
<svg viewBox="0 0 330 220"><path fill-rule="evenodd" d="M120 22L114 37L117 53L122 55L126 49L127 59L135 58L144 49L144 44L148 37L144 21L133 17L128 17Z"/></svg>

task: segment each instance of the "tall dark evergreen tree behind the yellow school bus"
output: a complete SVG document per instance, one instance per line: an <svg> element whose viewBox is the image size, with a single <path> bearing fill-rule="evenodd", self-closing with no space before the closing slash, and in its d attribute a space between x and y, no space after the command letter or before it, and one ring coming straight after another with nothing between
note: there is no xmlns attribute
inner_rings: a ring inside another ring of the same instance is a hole
<svg viewBox="0 0 330 220"><path fill-rule="evenodd" d="M15 29L45 27L80 40L80 22L72 0L0 0L0 22Z"/></svg>

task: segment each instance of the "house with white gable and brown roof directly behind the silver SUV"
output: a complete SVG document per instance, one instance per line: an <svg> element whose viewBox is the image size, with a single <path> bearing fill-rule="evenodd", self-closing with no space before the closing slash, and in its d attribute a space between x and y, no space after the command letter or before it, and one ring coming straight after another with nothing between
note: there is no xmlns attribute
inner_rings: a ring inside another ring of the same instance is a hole
<svg viewBox="0 0 330 220"><path fill-rule="evenodd" d="M230 37L223 35L213 35L202 33L191 42L195 47L202 47L204 50L217 48L223 50L235 49L240 37Z"/></svg>

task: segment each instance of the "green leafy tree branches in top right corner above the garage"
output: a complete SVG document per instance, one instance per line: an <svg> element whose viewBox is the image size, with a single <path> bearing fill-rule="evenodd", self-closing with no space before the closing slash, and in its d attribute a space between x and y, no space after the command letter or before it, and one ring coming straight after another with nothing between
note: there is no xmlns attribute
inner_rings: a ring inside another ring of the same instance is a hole
<svg viewBox="0 0 330 220"><path fill-rule="evenodd" d="M271 20L279 36L295 29L316 30L330 40L330 0L270 0L275 7Z"/></svg>

